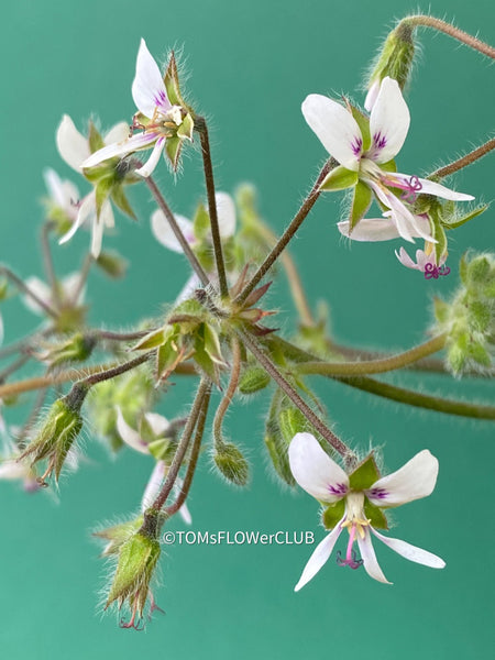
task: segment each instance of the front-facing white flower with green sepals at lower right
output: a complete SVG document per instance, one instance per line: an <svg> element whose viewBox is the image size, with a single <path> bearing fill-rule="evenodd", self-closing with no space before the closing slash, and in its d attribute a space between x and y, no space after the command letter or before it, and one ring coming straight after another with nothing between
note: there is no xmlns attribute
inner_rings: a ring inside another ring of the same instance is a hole
<svg viewBox="0 0 495 660"><path fill-rule="evenodd" d="M433 569L442 569L442 559L406 541L382 535L387 529L383 509L400 506L430 495L438 474L438 460L428 450L420 451L400 470L380 477L373 455L351 474L346 474L321 449L310 433L297 433L289 446L290 470L297 483L316 497L326 510L323 524L330 534L311 554L295 591L307 584L328 561L344 529L349 532L345 557L337 554L339 565L358 569L364 564L366 573L391 584L382 572L373 549L372 536L402 557ZM356 557L358 543L361 559Z"/></svg>

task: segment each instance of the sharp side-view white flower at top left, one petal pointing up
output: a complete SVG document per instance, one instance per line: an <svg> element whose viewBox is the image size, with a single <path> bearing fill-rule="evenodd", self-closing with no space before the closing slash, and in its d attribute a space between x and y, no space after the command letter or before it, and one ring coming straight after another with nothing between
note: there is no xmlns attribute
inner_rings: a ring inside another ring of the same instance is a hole
<svg viewBox="0 0 495 660"><path fill-rule="evenodd" d="M132 84L132 98L139 110L134 116L132 130L142 130L100 148L82 163L84 167L94 167L108 158L123 157L136 151L153 147L147 162L135 173L147 177L156 167L160 156L165 155L177 167L183 142L193 141L194 119L190 109L180 95L177 66L170 56L167 69L162 76L158 65L141 40Z"/></svg>

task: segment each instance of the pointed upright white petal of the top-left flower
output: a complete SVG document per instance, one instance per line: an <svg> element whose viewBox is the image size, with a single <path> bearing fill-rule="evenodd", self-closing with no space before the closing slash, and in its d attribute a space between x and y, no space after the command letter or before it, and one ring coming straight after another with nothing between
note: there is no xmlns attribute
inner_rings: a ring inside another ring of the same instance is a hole
<svg viewBox="0 0 495 660"><path fill-rule="evenodd" d="M170 109L165 84L158 65L147 50L144 38L141 40L138 59L135 63L135 77L132 82L132 98L136 108L150 119L155 109L162 113Z"/></svg>

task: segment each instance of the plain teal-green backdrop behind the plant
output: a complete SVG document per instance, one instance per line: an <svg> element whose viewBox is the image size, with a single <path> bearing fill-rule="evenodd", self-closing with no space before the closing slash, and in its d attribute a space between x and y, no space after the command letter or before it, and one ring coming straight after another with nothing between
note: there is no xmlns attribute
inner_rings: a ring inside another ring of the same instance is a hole
<svg viewBox="0 0 495 660"><path fill-rule="evenodd" d="M493 3L437 1L431 13L455 19L464 30L494 41ZM92 113L103 127L134 112L130 86L139 40L155 56L183 47L188 89L211 118L216 175L221 189L241 180L260 189L263 213L278 231L297 209L324 153L305 124L299 106L309 92L354 94L362 100L363 73L394 18L416 3L309 0L233 3L228 0L18 0L2 9L2 219L1 258L22 276L41 273L36 244L44 194L42 169L51 165L75 180L59 160L55 128L64 112L82 128ZM399 156L402 170L424 174L477 145L493 130L493 68L479 54L424 31L422 55L408 92L413 123ZM175 184L164 166L158 179L184 215L202 196L197 153L185 158ZM492 199L490 157L455 178L455 187ZM84 182L78 182L84 189ZM153 242L145 190L134 190L139 224L118 219L119 233L106 245L132 261L125 283L91 278L94 323L118 328L160 310L186 277L186 264ZM341 197L318 204L294 241L312 302L328 299L339 341L351 345L407 348L431 319L433 295L455 286L455 273L425 282L400 267L391 245L343 243L336 221ZM493 249L494 213L455 232L451 265L466 246ZM61 271L78 263L87 235L61 249ZM455 271L455 268L454 268ZM284 284L271 302L277 323L290 329L292 306ZM6 305L7 341L34 327L18 301ZM453 396L493 400L488 384L451 383L426 375L394 382ZM329 561L304 591L293 593L311 547L170 547L161 564L157 591L165 616L145 632L120 630L97 607L103 570L89 530L133 510L150 463L122 452L112 461L87 442L88 463L63 481L59 504L0 484L0 652L4 658L218 658L355 657L403 660L481 658L493 648L494 542L492 503L495 460L493 425L408 410L319 384L337 430L367 449L386 446L395 470L429 448L440 460L436 492L398 509L394 536L447 560L433 571L377 548L394 586L364 571L339 570ZM161 410L173 416L188 405L178 383ZM194 529L315 530L317 507L305 493L284 492L267 469L262 430L264 397L238 405L231 437L253 463L243 492L220 481L204 455L194 484ZM184 529L180 521L176 529Z"/></svg>

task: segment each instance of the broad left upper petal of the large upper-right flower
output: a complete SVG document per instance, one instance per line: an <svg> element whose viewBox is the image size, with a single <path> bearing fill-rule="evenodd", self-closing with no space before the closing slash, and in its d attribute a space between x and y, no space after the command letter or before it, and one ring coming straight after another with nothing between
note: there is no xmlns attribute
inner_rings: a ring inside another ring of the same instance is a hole
<svg viewBox="0 0 495 660"><path fill-rule="evenodd" d="M358 172L363 138L349 110L328 97L311 94L302 102L302 114L328 153L348 169Z"/></svg>

